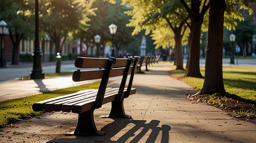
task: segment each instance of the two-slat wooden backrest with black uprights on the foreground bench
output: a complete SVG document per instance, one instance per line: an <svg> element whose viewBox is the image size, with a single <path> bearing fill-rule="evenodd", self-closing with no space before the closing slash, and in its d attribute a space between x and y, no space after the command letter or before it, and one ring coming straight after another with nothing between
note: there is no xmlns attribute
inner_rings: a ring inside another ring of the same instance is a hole
<svg viewBox="0 0 256 143"><path fill-rule="evenodd" d="M75 66L77 68L96 68L92 70L76 70L73 73L73 81L85 81L92 79L101 79L101 84L97 93L94 108L100 108L105 95L106 87L108 84L109 77L123 76L117 100L121 100L123 97L130 95L132 86L132 80L134 76L137 62L140 57L135 56L134 58L92 58L92 57L77 57ZM130 75L130 80L127 86L126 95L123 95L124 88L126 86L126 80Z"/></svg>

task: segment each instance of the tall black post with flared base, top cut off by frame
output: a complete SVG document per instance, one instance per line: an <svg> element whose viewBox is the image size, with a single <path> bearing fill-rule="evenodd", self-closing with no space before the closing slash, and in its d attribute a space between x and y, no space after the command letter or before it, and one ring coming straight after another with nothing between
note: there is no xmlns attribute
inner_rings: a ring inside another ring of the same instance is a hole
<svg viewBox="0 0 256 143"><path fill-rule="evenodd" d="M30 72L30 79L44 79L45 73L42 70L41 56L42 52L39 47L39 36L38 36L38 0L35 0L35 48L32 53L33 56L33 69Z"/></svg>

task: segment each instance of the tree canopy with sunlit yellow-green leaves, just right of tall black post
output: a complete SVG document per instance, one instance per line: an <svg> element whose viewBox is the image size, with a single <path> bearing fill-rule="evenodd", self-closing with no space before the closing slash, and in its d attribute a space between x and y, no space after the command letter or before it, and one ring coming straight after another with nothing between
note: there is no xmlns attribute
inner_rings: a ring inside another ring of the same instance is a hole
<svg viewBox="0 0 256 143"><path fill-rule="evenodd" d="M69 33L78 33L79 29L88 29L89 15L95 15L92 9L94 0L42 0L40 2L40 28L47 32L55 43L56 53ZM61 40L62 39L62 40Z"/></svg>

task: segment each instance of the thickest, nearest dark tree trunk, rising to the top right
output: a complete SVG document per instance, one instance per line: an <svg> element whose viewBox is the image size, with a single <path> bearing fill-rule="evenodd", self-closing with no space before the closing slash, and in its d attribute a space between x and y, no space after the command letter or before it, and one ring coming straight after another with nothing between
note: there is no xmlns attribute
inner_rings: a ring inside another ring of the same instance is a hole
<svg viewBox="0 0 256 143"><path fill-rule="evenodd" d="M222 76L225 0L210 0L204 85L200 94L225 92Z"/></svg>

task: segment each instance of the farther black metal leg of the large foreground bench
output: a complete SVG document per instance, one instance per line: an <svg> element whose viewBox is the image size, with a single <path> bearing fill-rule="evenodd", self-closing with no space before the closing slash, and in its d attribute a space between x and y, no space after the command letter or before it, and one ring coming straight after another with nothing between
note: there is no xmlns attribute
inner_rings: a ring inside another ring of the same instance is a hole
<svg viewBox="0 0 256 143"><path fill-rule="evenodd" d="M112 101L112 107L110 114L107 116L100 116L100 117L107 117L107 118L131 118L132 116L126 115L124 112L124 99L121 101Z"/></svg>

